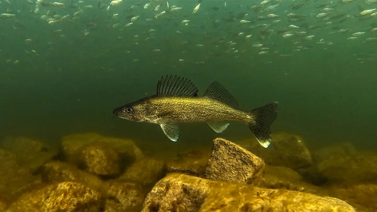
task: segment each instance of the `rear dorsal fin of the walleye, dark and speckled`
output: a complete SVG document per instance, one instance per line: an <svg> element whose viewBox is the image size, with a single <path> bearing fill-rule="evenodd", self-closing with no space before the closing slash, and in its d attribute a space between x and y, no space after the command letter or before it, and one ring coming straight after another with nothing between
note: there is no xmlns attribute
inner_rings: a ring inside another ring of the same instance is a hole
<svg viewBox="0 0 377 212"><path fill-rule="evenodd" d="M237 100L218 81L210 84L204 95L229 104L232 107L238 107Z"/></svg>

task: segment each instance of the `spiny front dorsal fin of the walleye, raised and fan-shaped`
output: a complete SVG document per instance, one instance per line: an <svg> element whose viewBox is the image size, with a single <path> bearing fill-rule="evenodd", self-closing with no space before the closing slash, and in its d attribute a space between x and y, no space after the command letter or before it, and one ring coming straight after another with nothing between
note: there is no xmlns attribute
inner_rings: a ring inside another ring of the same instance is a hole
<svg viewBox="0 0 377 212"><path fill-rule="evenodd" d="M175 75L161 77L157 83L157 95L186 95L197 96L198 89L188 79Z"/></svg>

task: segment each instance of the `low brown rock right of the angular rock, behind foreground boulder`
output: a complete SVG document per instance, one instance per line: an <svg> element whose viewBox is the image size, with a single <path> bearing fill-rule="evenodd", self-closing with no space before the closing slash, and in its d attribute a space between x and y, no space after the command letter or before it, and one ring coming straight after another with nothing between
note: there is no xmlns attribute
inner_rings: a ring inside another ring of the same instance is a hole
<svg viewBox="0 0 377 212"><path fill-rule="evenodd" d="M321 196L325 194L321 187L306 183L301 175L284 166L266 166L259 187L297 190Z"/></svg>

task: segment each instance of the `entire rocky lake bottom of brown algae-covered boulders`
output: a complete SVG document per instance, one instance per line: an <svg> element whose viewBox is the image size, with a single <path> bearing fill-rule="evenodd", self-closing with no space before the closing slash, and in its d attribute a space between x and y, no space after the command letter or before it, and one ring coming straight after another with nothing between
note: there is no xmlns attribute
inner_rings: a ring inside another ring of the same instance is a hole
<svg viewBox="0 0 377 212"><path fill-rule="evenodd" d="M216 138L161 159L127 138L0 141L0 211L377 211L377 153L297 135Z"/></svg>

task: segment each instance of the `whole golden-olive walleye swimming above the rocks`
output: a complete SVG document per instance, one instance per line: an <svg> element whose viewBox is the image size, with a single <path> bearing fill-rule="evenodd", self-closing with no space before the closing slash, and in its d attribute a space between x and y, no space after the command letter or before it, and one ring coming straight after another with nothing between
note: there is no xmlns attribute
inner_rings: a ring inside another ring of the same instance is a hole
<svg viewBox="0 0 377 212"><path fill-rule="evenodd" d="M178 140L177 123L207 122L215 132L224 131L227 121L246 123L259 143L267 148L271 143L270 125L277 116L277 102L251 111L237 109L238 103L221 84L214 81L203 96L186 78L162 77L157 94L114 109L116 116L138 122L159 124L172 141Z"/></svg>

